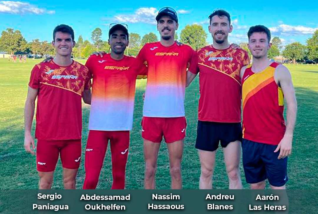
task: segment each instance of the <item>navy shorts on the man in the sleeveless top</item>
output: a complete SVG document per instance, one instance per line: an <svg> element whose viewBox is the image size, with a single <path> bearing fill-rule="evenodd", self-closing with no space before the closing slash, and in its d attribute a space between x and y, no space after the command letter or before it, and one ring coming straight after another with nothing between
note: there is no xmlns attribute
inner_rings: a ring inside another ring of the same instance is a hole
<svg viewBox="0 0 318 214"><path fill-rule="evenodd" d="M269 184L281 187L288 181L287 157L277 159L277 145L269 145L243 139L243 168L247 183L259 183L268 179Z"/></svg>

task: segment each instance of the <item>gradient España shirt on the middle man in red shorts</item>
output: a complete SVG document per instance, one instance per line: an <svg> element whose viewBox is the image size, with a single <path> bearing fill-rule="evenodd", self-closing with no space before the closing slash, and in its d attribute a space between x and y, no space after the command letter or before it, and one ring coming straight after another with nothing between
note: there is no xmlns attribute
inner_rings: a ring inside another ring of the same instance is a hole
<svg viewBox="0 0 318 214"><path fill-rule="evenodd" d="M196 73L196 52L189 45L154 42L145 44L137 59L148 65L143 116L183 117L187 68Z"/></svg>

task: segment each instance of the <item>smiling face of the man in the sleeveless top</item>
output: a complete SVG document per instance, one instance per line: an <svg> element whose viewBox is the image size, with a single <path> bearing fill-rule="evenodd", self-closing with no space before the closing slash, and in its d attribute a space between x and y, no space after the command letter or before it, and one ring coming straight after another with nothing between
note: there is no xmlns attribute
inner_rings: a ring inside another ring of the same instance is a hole
<svg viewBox="0 0 318 214"><path fill-rule="evenodd" d="M248 49L256 59L267 57L267 51L271 46L272 43L269 43L265 32L252 33L248 42Z"/></svg>

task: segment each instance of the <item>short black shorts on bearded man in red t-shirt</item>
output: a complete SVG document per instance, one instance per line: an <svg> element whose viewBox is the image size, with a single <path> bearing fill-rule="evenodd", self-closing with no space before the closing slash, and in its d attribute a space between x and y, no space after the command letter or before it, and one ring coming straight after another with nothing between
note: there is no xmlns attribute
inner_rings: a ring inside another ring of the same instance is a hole
<svg viewBox="0 0 318 214"><path fill-rule="evenodd" d="M198 121L196 148L215 151L219 142L225 148L230 142L242 141L241 123Z"/></svg>

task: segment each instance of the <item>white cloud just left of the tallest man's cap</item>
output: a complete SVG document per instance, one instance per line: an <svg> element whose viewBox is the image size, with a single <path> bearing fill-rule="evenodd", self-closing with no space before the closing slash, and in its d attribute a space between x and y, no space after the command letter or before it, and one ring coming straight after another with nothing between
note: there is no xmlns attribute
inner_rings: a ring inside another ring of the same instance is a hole
<svg viewBox="0 0 318 214"><path fill-rule="evenodd" d="M157 24L156 22L157 9L154 7L142 7L135 11L132 15L118 15L115 20L123 23L146 23Z"/></svg>

